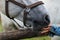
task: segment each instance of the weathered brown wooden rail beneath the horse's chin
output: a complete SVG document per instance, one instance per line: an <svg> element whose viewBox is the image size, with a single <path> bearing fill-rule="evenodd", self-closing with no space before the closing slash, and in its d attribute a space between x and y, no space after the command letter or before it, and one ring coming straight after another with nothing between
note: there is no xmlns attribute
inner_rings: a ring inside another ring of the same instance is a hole
<svg viewBox="0 0 60 40"><path fill-rule="evenodd" d="M18 40L22 38L31 38L41 36L40 31L31 31L31 30L15 30L10 32L0 33L0 40Z"/></svg>

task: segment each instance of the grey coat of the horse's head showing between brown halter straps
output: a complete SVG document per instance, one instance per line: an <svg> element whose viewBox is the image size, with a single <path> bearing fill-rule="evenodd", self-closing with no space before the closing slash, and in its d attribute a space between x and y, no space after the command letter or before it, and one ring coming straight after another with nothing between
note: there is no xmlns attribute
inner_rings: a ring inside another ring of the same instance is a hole
<svg viewBox="0 0 60 40"><path fill-rule="evenodd" d="M17 0L15 0L15 1L17 1ZM35 2L33 2L31 0L20 0L20 2L21 1L23 2L22 4L25 4L27 6L28 5L31 5L33 3L38 2L38 1L35 1L35 0L33 0ZM14 7L11 8L12 5ZM9 8L9 11L7 10L7 12L9 12L10 18L12 18L12 17L14 18L13 21L14 21L15 25L17 23L18 24L18 28L19 28L19 26L20 27L21 26L22 27L25 27L25 25L23 24L24 9L21 8L21 7L19 7L19 6L17 6L17 5L14 5L12 2L9 2L7 8ZM12 10L12 9L14 9L14 10ZM15 10L19 10L19 11L15 11ZM16 13L16 12L18 12L18 13ZM41 27L47 26L50 23L50 20L49 20L49 16L47 14L47 11L45 10L45 8L44 8L44 6L42 4L39 5L39 6L37 6L37 7L35 7L35 8L33 8L33 9L31 9L30 12L29 12L29 14L26 15L26 16L27 16L26 23L27 23L27 25L31 25L31 28L33 27L33 30L38 30Z"/></svg>

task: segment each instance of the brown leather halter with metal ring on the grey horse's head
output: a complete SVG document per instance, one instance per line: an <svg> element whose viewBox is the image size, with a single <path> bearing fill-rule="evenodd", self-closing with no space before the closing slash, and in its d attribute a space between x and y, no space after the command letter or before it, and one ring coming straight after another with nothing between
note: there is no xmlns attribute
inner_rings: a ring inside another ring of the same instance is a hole
<svg viewBox="0 0 60 40"><path fill-rule="evenodd" d="M6 0L5 1L5 10L6 10L6 15L7 15L7 17L9 17L10 19L13 19L14 20L14 17L10 17L10 15L9 15L9 7L8 7L8 3L9 2L12 2L13 4L15 4L15 5L17 5L17 6L19 6L19 7L21 7L21 8L23 8L23 9L25 9L24 10L24 16L23 16L23 23L24 23L24 25L25 26L27 26L26 25L26 19L27 19L27 14L29 14L29 12L30 12L30 10L31 9L33 9L33 8L35 8L35 7L37 7L37 6L39 6L39 5L42 5L42 4L44 4L42 1L39 1L39 2L36 2L36 3L34 3L34 4L32 4L32 5L29 5L29 6L27 6L27 5L25 5L25 4L21 4L21 3L19 3L19 2L16 2L15 0ZM15 20L14 20L15 21ZM15 21L16 22L16 21ZM17 22L16 22L17 23ZM18 24L18 23L17 23ZM18 24L19 25L19 24ZM20 25L19 25L20 26Z"/></svg>

